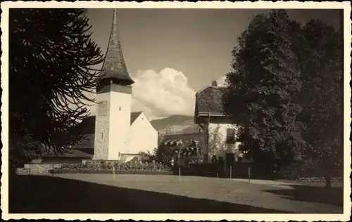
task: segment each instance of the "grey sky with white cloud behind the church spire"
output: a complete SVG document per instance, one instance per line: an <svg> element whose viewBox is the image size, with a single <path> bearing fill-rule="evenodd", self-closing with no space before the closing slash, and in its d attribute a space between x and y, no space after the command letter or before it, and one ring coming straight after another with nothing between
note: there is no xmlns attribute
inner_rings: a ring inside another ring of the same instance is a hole
<svg viewBox="0 0 352 222"><path fill-rule="evenodd" d="M211 81L223 84L231 51L250 19L268 9L122 8L120 42L132 85L132 111L149 119L194 115L195 93ZM288 10L305 23L318 18L339 28L339 11ZM112 8L89 8L92 39L106 52ZM102 64L101 64L102 65ZM100 68L100 67L99 67ZM95 110L92 107L92 115Z"/></svg>

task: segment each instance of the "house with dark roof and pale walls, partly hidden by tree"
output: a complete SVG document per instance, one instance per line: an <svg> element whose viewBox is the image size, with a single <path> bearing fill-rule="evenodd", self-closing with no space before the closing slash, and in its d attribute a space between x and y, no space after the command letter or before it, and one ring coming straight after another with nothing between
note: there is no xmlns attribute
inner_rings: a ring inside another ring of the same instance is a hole
<svg viewBox="0 0 352 222"><path fill-rule="evenodd" d="M212 159L223 159L230 166L233 162L243 160L239 152L237 141L238 126L222 113L222 94L226 86L218 86L213 81L211 86L206 86L196 93L194 122L203 129L203 159L212 162Z"/></svg>

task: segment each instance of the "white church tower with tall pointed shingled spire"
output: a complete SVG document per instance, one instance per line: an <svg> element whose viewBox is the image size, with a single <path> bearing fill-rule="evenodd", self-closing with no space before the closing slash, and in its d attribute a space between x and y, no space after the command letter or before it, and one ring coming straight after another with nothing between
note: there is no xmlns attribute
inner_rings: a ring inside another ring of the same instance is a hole
<svg viewBox="0 0 352 222"><path fill-rule="evenodd" d="M120 159L120 153L130 152L132 84L122 55L114 8L106 58L96 87L94 159Z"/></svg>

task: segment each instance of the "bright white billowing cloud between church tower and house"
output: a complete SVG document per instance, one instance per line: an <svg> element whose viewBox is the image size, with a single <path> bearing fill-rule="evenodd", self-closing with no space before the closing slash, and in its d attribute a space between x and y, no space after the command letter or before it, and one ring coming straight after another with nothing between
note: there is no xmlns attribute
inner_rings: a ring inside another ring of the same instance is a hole
<svg viewBox="0 0 352 222"><path fill-rule="evenodd" d="M160 72L138 70L132 79L132 112L143 111L149 119L194 115L195 91L182 72L168 67ZM88 109L95 115L95 105Z"/></svg>

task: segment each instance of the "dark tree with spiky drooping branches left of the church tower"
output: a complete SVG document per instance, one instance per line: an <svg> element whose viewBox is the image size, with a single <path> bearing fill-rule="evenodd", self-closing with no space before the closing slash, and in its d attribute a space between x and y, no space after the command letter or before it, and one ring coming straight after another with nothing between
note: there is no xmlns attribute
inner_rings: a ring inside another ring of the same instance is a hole
<svg viewBox="0 0 352 222"><path fill-rule="evenodd" d="M9 138L12 147L42 143L62 151L83 135L103 61L91 40L86 10L17 8L9 23Z"/></svg>

